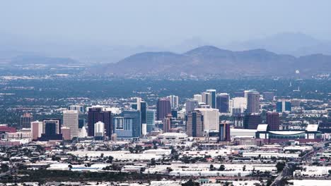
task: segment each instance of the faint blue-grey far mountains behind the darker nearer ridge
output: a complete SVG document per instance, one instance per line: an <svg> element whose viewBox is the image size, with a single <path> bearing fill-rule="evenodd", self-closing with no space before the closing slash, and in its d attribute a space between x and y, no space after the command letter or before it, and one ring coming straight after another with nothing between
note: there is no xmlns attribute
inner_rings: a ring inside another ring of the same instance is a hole
<svg viewBox="0 0 331 186"><path fill-rule="evenodd" d="M219 38L221 38L221 35ZM232 51L266 49L276 54L289 54L296 57L310 54L331 55L331 41L315 39L301 32L282 32L260 39L250 39L230 44L221 42L221 39L218 40L219 38L205 41L203 37L192 37L182 41L156 42L160 44L128 45L118 42L46 41L6 33L1 34L0 31L0 63L1 59L8 61L16 56L64 56L86 63L86 65L116 63L122 58L144 51L172 51L182 54L190 49L205 45L213 45L220 49Z"/></svg>

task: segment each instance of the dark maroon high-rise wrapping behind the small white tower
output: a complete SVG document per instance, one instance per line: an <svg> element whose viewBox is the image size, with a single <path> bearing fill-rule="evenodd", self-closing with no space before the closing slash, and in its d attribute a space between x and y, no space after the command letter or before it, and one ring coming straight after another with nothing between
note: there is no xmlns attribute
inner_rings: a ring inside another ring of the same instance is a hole
<svg viewBox="0 0 331 186"><path fill-rule="evenodd" d="M112 112L104 111L103 107L92 107L88 109L88 136L94 135L94 124L101 121L105 124L107 137L112 135Z"/></svg>

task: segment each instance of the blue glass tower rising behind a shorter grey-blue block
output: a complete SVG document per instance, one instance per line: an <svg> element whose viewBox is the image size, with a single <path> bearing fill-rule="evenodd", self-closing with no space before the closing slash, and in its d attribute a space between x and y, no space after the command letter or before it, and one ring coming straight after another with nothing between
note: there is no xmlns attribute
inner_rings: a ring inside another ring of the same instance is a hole
<svg viewBox="0 0 331 186"><path fill-rule="evenodd" d="M122 117L124 117L124 119L132 118L132 137L141 137L141 112L137 110L125 110L122 112Z"/></svg>

